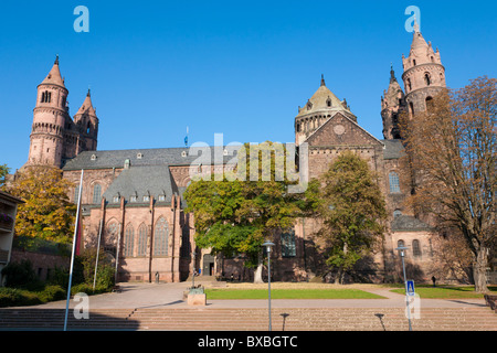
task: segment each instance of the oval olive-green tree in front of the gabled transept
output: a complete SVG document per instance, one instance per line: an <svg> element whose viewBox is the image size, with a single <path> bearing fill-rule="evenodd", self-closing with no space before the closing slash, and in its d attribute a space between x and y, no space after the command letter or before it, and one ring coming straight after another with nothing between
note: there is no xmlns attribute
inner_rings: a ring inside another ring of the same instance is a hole
<svg viewBox="0 0 497 353"><path fill-rule="evenodd" d="M338 156L330 169L313 180L317 216L322 221L317 236L327 245L327 265L343 282L346 271L371 253L384 232L387 210L377 176L368 163L351 151Z"/></svg>

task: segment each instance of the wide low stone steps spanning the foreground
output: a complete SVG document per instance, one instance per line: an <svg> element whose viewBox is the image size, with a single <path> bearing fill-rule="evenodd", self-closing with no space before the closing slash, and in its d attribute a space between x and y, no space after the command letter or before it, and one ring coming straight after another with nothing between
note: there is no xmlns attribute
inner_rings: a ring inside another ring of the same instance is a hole
<svg viewBox="0 0 497 353"><path fill-rule="evenodd" d="M64 309L0 309L2 330L63 330ZM413 331L497 331L489 308L422 308ZM273 331L408 331L399 308L273 309ZM67 330L267 331L267 309L99 309L89 319L70 310Z"/></svg>

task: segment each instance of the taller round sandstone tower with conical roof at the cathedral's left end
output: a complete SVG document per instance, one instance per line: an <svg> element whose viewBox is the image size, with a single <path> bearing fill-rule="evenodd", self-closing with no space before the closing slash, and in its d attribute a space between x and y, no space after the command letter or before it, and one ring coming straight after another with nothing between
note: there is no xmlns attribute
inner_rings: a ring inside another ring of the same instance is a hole
<svg viewBox="0 0 497 353"><path fill-rule="evenodd" d="M64 127L68 118L67 94L59 69L57 55L49 75L38 86L27 164L61 167Z"/></svg>

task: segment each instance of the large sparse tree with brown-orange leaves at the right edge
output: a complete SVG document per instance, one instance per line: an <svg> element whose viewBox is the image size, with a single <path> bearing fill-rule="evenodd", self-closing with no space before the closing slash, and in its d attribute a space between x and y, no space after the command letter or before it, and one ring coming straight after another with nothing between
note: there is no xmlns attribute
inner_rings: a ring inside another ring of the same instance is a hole
<svg viewBox="0 0 497 353"><path fill-rule="evenodd" d="M473 257L475 290L486 292L496 250L497 79L473 79L401 117L413 193L409 203L442 232L459 232ZM445 229L445 231L444 231Z"/></svg>

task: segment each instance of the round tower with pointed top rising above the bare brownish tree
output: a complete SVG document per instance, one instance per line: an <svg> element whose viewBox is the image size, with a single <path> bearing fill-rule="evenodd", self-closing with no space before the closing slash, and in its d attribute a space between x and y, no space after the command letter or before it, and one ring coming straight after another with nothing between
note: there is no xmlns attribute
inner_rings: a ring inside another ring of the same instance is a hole
<svg viewBox="0 0 497 353"><path fill-rule="evenodd" d="M402 55L402 63L406 107L413 117L425 111L427 101L446 87L440 52L433 50L431 42L426 43L417 24L414 25L411 52L409 57Z"/></svg>

